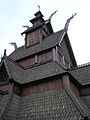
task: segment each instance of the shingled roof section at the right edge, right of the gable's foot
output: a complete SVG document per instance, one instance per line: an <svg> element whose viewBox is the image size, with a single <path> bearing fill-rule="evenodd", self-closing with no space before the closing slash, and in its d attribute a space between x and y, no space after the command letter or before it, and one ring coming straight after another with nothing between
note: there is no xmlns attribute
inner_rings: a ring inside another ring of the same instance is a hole
<svg viewBox="0 0 90 120"><path fill-rule="evenodd" d="M78 67L78 68L70 71L70 73L82 85L90 84L90 65Z"/></svg>

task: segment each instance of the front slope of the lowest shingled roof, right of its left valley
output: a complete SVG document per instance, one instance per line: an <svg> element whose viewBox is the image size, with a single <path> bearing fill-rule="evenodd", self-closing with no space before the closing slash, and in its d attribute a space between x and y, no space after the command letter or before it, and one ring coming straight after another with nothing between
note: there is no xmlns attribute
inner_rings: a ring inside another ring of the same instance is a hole
<svg viewBox="0 0 90 120"><path fill-rule="evenodd" d="M19 120L77 120L82 116L65 90L23 96L18 109Z"/></svg>

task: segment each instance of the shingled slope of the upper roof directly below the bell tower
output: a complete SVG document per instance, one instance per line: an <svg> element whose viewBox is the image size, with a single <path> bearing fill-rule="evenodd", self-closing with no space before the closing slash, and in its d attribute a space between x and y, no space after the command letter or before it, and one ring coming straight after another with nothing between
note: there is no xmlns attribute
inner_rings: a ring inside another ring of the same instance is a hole
<svg viewBox="0 0 90 120"><path fill-rule="evenodd" d="M63 35L63 30L46 37L41 42L41 44L37 44L27 49L24 49L24 46L22 46L18 48L17 50L15 50L9 57L13 60L19 60L21 58L24 58L24 57L39 53L41 51L50 49L52 47L55 47L57 43L59 43L62 35Z"/></svg>

